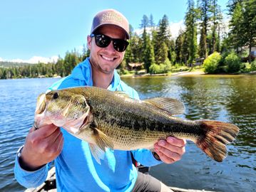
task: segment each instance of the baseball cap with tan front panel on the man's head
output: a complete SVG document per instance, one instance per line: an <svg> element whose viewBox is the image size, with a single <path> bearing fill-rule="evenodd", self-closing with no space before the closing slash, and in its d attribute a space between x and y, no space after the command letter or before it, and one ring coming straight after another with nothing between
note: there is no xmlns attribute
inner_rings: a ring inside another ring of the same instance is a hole
<svg viewBox="0 0 256 192"><path fill-rule="evenodd" d="M91 26L91 34L96 31L99 27L105 25L113 25L121 28L126 33L126 38L130 38L129 35L129 23L123 14L114 10L106 9L98 12L93 18L93 24Z"/></svg>

